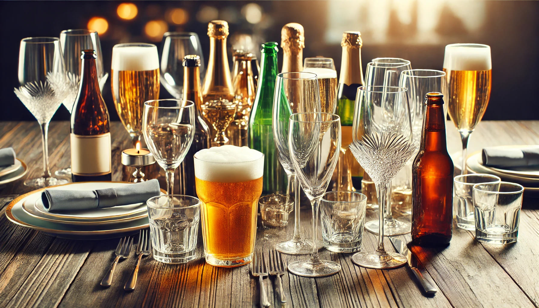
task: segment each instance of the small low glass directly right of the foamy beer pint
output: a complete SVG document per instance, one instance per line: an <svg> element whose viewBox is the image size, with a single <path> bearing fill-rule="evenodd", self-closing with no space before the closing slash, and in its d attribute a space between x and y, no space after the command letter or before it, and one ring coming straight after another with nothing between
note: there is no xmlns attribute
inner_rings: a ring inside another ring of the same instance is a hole
<svg viewBox="0 0 539 308"><path fill-rule="evenodd" d="M288 214L294 209L294 198L287 195L267 195L258 200L262 225L285 227Z"/></svg>

